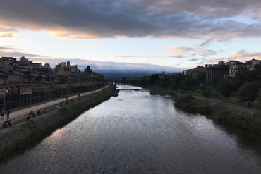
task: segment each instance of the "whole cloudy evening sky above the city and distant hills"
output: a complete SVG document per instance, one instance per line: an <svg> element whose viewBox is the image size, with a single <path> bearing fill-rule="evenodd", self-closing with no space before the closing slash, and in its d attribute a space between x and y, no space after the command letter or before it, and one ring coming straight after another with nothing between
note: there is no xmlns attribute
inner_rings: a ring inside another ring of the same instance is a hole
<svg viewBox="0 0 261 174"><path fill-rule="evenodd" d="M257 0L1 0L0 56L181 72L261 60Z"/></svg>

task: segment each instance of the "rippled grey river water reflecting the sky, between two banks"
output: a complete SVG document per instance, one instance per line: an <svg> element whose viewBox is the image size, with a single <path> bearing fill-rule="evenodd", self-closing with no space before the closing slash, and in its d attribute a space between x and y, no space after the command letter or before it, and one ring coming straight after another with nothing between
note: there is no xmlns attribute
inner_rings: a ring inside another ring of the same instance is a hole
<svg viewBox="0 0 261 174"><path fill-rule="evenodd" d="M178 111L147 89L119 89L140 90L121 90L0 161L0 173L261 173L260 139Z"/></svg>

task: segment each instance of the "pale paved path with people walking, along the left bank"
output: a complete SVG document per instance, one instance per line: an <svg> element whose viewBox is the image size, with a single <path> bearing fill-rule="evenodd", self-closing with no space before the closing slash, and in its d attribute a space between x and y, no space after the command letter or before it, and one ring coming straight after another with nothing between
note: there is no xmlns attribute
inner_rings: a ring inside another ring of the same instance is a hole
<svg viewBox="0 0 261 174"><path fill-rule="evenodd" d="M107 85L106 88L108 86L109 85ZM86 93L80 94L80 96L85 96L87 94L92 94L92 93L99 92L99 91L102 91L102 89L97 89L97 90L92 91L92 92L86 92ZM71 99L75 99L75 98L78 98L78 95L68 97L68 101L71 100ZM38 111L39 109L47 108L49 106L55 106L56 104L60 104L63 101L66 101L66 98L58 99L58 100L55 100L55 101L49 101L49 102L44 103L44 104L39 104L39 105L36 105L36 106L32 106L30 108L24 108L24 109L21 109L19 111L11 112L10 113L10 119L13 120L14 118L18 118L20 116L28 115L30 113L30 111L34 111L35 114L37 114L36 111ZM4 114L4 120L0 120L0 125L1 125L1 123L4 123L6 120L7 120L6 114Z"/></svg>

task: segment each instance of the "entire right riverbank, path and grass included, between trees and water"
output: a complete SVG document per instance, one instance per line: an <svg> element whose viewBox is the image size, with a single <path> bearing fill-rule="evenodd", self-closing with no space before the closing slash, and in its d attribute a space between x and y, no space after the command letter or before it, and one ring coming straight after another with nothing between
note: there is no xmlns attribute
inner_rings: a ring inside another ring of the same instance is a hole
<svg viewBox="0 0 261 174"><path fill-rule="evenodd" d="M190 113L200 113L210 116L215 120L219 120L230 125L236 125L243 130L252 130L261 134L261 110L258 108L248 108L242 105L233 104L221 99L210 99L205 97L181 94L167 89L159 89L157 87L141 86L150 89L151 92L165 95L176 100L176 107L188 111ZM185 97L185 98L183 98Z"/></svg>

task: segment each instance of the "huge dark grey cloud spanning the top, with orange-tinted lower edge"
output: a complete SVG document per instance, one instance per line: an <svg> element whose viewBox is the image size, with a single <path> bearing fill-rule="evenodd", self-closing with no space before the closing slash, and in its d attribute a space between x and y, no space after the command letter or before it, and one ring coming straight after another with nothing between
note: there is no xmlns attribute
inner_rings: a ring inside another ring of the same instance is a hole
<svg viewBox="0 0 261 174"><path fill-rule="evenodd" d="M47 30L68 39L252 38L261 37L260 23L229 18L243 14L260 20L260 7L261 1L243 0L1 0L0 30Z"/></svg>

